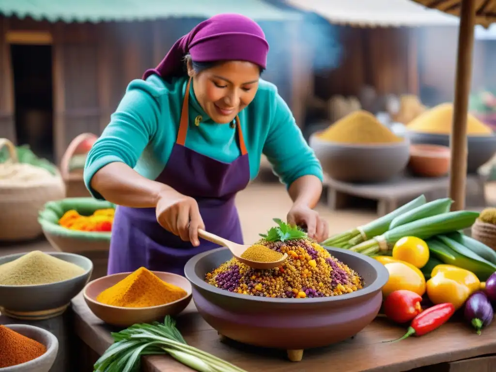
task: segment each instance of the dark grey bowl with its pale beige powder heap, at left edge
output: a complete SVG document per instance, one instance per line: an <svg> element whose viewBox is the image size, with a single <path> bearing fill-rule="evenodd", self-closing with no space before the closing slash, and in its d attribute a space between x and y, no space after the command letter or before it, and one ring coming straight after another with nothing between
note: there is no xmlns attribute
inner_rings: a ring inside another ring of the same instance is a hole
<svg viewBox="0 0 496 372"><path fill-rule="evenodd" d="M26 320L58 316L92 270L90 259L74 253L35 250L0 257L0 311Z"/></svg>

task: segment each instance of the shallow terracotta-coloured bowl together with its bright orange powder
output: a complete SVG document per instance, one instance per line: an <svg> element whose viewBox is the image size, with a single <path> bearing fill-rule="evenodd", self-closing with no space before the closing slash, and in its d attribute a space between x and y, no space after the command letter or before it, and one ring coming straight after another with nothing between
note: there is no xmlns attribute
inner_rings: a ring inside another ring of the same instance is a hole
<svg viewBox="0 0 496 372"><path fill-rule="evenodd" d="M177 274L140 267L130 273L89 282L83 297L90 310L108 324L128 327L175 316L191 301L191 284Z"/></svg>

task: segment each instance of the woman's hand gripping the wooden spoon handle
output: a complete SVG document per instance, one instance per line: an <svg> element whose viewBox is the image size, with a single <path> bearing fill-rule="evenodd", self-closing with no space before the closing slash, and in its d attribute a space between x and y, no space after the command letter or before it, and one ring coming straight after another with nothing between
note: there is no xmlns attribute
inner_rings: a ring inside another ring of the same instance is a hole
<svg viewBox="0 0 496 372"><path fill-rule="evenodd" d="M173 189L159 193L155 209L158 223L185 242L198 247L198 229L205 229L198 203Z"/></svg>

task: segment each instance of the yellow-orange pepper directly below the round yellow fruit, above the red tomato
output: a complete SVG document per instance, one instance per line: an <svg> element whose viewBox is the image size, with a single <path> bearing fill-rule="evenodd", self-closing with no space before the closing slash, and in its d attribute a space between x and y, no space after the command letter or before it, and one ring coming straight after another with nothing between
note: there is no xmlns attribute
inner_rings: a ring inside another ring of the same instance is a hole
<svg viewBox="0 0 496 372"><path fill-rule="evenodd" d="M389 280L382 287L384 296L399 289L406 289L420 296L426 292L426 278L418 268L406 262L389 262L384 267L389 272Z"/></svg>

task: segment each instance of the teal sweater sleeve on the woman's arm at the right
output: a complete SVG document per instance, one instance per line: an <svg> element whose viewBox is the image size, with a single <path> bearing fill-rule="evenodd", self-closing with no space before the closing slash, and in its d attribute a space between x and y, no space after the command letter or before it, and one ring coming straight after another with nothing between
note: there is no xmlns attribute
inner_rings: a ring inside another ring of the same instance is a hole
<svg viewBox="0 0 496 372"><path fill-rule="evenodd" d="M320 162L307 144L288 105L275 91L274 115L263 153L282 183L289 187L300 177L313 175L323 180Z"/></svg>

